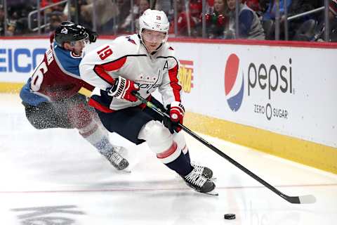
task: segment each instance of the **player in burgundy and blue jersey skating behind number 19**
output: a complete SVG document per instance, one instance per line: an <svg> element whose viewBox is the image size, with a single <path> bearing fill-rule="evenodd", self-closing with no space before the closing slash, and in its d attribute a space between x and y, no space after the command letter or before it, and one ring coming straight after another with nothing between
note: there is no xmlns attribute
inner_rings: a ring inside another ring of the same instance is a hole
<svg viewBox="0 0 337 225"><path fill-rule="evenodd" d="M63 22L55 30L55 41L51 48L22 87L20 97L25 105L26 117L37 129L76 128L79 134L121 170L128 167L128 161L118 153L124 150L112 146L108 132L86 96L79 94L84 87L90 91L93 86L79 76L79 63L87 42L95 42L97 34L70 21Z"/></svg>

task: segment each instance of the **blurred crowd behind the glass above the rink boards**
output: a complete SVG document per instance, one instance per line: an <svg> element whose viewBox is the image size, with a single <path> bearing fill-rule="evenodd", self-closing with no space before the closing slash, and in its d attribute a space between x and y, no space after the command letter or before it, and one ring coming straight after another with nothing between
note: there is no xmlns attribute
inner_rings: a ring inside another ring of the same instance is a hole
<svg viewBox="0 0 337 225"><path fill-rule="evenodd" d="M0 0L1 36L37 35L38 24L40 33L48 34L63 20L99 34L128 34L136 32L147 8L168 15L171 37L273 40L279 25L277 39L323 41L326 28L324 0L206 0L204 11L201 0L41 0L39 6L36 0L7 0L6 8L4 1ZM39 17L38 7L43 9ZM329 41L337 41L336 22L337 0L329 0Z"/></svg>

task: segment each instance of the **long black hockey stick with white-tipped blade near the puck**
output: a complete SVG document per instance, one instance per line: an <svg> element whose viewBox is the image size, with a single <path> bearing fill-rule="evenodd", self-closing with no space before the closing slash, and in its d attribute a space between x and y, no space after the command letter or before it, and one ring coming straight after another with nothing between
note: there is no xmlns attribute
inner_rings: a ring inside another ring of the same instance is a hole
<svg viewBox="0 0 337 225"><path fill-rule="evenodd" d="M140 96L140 94L138 92L133 92L133 95L136 96L136 98L138 98L138 100L140 100L142 103L145 103L145 105L147 105L148 108L151 108L152 110L154 110L157 113L159 113L159 115L161 115L163 117L169 117L169 115L167 115L160 108L158 108L157 105L154 105L150 101L147 101L145 98L143 98L142 96ZM194 137L194 139L197 139L198 141L200 141L201 143L203 143L205 146L211 148L211 150L213 150L214 152L218 153L218 155L220 155L222 158L225 158L226 160L230 161L234 166L238 167L243 172L245 172L249 176L253 177L253 179L256 179L256 181L260 182L260 184L263 184L263 186L265 186L266 188L270 189L270 191L276 193L280 197L284 198L289 203L293 203L293 204L310 204L310 203L315 203L316 202L316 198L315 198L314 195L302 195L302 196L289 196L289 195L285 195L281 191L277 190L277 188L275 188L274 186L268 184L266 181L264 181L263 179L261 179L256 174L253 174L253 172L251 172L249 169L246 169L246 167L244 167L243 165L239 164L239 162L233 160L228 155L226 155L225 153L223 153L222 151L220 151L218 148L216 148L215 146L211 145L211 143L209 143L208 141L205 141L204 139L202 139L199 135L195 134L193 131L191 131L190 129L188 129L187 127L185 127L183 124L179 124L179 126L184 131L186 131L188 134L190 134L192 137Z"/></svg>

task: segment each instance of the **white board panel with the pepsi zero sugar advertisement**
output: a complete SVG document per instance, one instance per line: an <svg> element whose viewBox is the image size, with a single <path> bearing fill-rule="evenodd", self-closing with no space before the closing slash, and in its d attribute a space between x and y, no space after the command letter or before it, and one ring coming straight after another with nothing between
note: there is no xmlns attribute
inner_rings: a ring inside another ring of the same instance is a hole
<svg viewBox="0 0 337 225"><path fill-rule="evenodd" d="M192 65L182 79L188 110L337 147L336 50L181 43L173 48Z"/></svg>

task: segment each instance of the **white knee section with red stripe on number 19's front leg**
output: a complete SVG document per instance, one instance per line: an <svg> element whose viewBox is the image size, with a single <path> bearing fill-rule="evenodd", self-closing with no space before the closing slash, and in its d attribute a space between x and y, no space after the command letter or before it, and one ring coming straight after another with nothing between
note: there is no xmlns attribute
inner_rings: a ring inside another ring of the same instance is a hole
<svg viewBox="0 0 337 225"><path fill-rule="evenodd" d="M149 148L157 154L161 162L169 163L176 160L181 153L169 129L161 122L152 120L140 130L139 139L147 141Z"/></svg>

